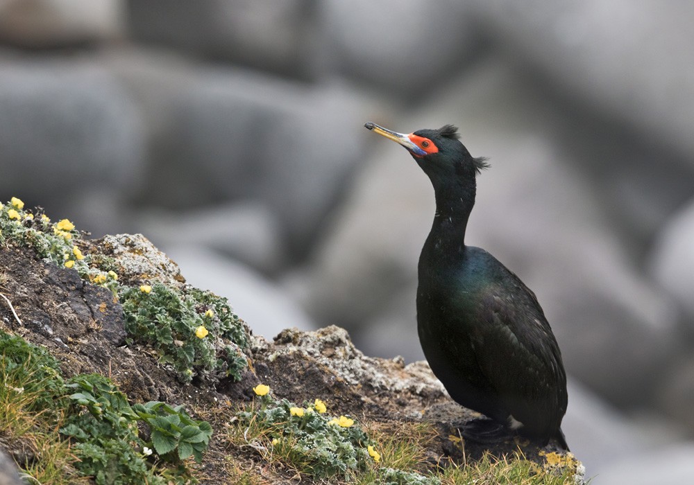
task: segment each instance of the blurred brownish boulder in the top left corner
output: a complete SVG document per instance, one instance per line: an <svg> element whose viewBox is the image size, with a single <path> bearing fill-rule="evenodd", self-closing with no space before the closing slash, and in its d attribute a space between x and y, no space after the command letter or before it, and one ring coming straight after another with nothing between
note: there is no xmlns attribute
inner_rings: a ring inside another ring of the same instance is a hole
<svg viewBox="0 0 694 485"><path fill-rule="evenodd" d="M121 33L117 0L32 0L0 3L0 39L25 48L79 46Z"/></svg>

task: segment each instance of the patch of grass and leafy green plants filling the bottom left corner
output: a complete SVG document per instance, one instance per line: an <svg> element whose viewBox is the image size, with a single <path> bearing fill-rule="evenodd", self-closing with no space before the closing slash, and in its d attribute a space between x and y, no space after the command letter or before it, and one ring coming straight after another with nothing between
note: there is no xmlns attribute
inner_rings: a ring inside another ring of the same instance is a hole
<svg viewBox="0 0 694 485"><path fill-rule="evenodd" d="M99 374L66 380L45 349L0 332L0 436L22 450L28 483L188 483L187 459L202 459L211 434L182 407L130 406Z"/></svg>

